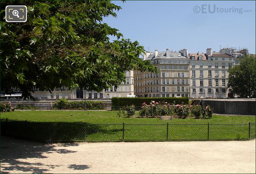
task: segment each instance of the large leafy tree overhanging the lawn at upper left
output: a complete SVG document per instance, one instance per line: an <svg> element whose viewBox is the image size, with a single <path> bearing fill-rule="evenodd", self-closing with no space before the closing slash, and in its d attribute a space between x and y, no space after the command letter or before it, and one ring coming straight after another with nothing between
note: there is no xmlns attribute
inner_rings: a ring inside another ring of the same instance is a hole
<svg viewBox="0 0 256 174"><path fill-rule="evenodd" d="M27 22L5 21L12 4L27 6ZM157 72L139 58L143 46L102 23L120 9L109 0L1 2L1 91L17 88L24 98L62 86L99 92L126 82L126 71Z"/></svg>

